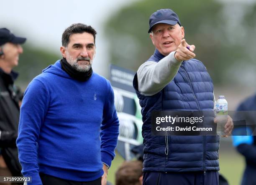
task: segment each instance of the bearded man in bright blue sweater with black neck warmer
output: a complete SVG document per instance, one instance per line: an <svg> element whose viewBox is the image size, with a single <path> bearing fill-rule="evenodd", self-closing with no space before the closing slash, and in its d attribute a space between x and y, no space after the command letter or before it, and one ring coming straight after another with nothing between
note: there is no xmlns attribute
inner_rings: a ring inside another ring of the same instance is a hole
<svg viewBox="0 0 256 185"><path fill-rule="evenodd" d="M92 71L95 35L91 26L69 26L63 58L26 89L17 146L33 185L106 184L119 121L110 82Z"/></svg>

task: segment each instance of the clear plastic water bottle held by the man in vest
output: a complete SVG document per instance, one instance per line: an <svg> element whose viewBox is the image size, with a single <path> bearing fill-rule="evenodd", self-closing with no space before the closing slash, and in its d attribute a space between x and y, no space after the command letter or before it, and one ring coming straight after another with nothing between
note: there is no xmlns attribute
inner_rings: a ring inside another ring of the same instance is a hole
<svg viewBox="0 0 256 185"><path fill-rule="evenodd" d="M216 118L217 122L217 134L225 135L225 124L228 120L228 101L225 100L225 96L219 96L219 99L216 101Z"/></svg>

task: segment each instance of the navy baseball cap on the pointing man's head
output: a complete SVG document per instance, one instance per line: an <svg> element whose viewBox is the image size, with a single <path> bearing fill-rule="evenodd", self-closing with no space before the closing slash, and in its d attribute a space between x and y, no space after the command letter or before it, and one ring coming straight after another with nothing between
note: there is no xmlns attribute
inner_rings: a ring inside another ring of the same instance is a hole
<svg viewBox="0 0 256 185"><path fill-rule="evenodd" d="M149 18L148 33L150 33L153 26L158 23L165 23L169 25L176 25L178 23L181 26L178 15L171 9L161 9L152 13Z"/></svg>

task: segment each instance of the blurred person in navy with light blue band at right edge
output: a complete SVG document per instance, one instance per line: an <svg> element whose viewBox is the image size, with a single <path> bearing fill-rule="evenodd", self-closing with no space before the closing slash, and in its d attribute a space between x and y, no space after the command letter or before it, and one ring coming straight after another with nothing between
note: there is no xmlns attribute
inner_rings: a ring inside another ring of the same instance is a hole
<svg viewBox="0 0 256 185"><path fill-rule="evenodd" d="M256 111L256 94L241 102L237 111L253 111L253 113L248 112L246 114L245 112L245 114L247 115L246 120L250 122L248 125L253 126L254 129L248 127L248 135L233 135L232 139L234 147L246 160L246 169L243 173L241 185L256 185L256 114L254 113Z"/></svg>

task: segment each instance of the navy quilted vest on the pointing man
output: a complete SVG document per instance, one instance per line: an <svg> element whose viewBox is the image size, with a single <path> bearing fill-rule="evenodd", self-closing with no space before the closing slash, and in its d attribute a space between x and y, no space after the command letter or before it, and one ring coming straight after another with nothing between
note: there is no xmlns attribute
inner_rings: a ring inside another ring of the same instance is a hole
<svg viewBox="0 0 256 185"><path fill-rule="evenodd" d="M148 61L158 62L163 57L156 50ZM151 135L151 112L154 110L213 110L212 79L202 62L183 61L174 79L154 96L138 92L137 74L133 86L142 107L144 172L219 170L218 136Z"/></svg>

